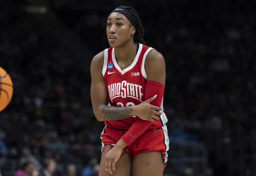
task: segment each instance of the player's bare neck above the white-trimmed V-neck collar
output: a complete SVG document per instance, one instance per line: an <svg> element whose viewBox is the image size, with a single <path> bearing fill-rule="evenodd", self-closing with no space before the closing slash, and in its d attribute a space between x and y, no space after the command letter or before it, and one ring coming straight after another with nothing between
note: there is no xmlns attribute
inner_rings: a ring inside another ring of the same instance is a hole
<svg viewBox="0 0 256 176"><path fill-rule="evenodd" d="M133 61L136 56L137 43L130 41L120 48L115 48L116 59L121 62Z"/></svg>

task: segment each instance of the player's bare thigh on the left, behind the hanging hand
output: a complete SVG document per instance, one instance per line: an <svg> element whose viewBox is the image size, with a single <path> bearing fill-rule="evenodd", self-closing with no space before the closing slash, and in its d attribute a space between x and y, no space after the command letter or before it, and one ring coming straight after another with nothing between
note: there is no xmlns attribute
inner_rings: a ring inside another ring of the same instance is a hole
<svg viewBox="0 0 256 176"><path fill-rule="evenodd" d="M106 145L105 150L101 154L99 176L114 176L114 175L131 176L132 175L132 158L126 152L123 152L120 158L117 160L115 165L116 170L113 172L113 174L105 170L103 166L103 161L104 161L105 155L108 153L109 150L110 150L110 145Z"/></svg>

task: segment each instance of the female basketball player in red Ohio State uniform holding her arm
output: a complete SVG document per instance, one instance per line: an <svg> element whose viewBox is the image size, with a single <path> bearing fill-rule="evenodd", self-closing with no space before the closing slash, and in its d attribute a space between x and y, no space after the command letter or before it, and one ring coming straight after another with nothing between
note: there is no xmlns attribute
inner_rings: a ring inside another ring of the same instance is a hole
<svg viewBox="0 0 256 176"><path fill-rule="evenodd" d="M111 48L91 63L93 111L106 124L99 175L163 175L169 149L162 107L164 58L144 45L133 8L117 7L106 25Z"/></svg>

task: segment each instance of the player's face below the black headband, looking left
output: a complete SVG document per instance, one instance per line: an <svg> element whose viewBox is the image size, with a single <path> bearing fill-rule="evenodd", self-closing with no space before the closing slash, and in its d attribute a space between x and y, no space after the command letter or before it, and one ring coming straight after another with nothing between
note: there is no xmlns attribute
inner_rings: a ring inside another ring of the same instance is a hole
<svg viewBox="0 0 256 176"><path fill-rule="evenodd" d="M107 37L111 47L122 47L128 41L133 40L135 28L131 26L130 21L118 12L113 12L107 20Z"/></svg>

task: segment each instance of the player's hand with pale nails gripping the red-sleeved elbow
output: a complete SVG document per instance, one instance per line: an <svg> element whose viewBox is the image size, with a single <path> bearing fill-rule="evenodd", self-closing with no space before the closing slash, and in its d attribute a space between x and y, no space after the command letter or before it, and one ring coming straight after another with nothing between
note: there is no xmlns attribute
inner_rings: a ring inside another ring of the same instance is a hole
<svg viewBox="0 0 256 176"><path fill-rule="evenodd" d="M145 100L143 103L136 105L138 107L138 111L136 115L143 120L150 120L152 122L156 122L159 120L159 115L161 115L161 108L157 106L153 106L150 103L156 98L156 96L151 97Z"/></svg>

